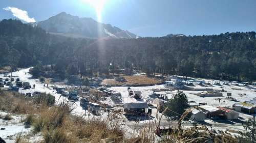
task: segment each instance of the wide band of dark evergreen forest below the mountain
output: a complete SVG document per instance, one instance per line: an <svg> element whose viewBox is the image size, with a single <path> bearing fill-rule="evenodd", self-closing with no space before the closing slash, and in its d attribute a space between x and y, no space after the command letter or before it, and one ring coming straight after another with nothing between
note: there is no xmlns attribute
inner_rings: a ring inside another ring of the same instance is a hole
<svg viewBox="0 0 256 143"><path fill-rule="evenodd" d="M0 66L52 65L62 75L95 76L135 67L148 75L179 74L256 80L255 32L139 39L72 39L18 20L0 22Z"/></svg>

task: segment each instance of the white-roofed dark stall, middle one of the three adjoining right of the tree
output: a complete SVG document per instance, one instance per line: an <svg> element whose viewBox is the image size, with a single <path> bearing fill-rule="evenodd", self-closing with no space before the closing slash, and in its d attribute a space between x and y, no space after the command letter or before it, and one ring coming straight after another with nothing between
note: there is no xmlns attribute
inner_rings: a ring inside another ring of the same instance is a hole
<svg viewBox="0 0 256 143"><path fill-rule="evenodd" d="M210 105L201 105L199 108L205 113L207 118L224 119L225 111Z"/></svg>

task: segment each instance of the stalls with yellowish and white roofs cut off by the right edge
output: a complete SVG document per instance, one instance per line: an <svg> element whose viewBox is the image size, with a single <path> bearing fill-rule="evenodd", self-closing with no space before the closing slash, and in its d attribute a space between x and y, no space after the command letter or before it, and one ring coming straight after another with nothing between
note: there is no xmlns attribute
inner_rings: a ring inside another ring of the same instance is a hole
<svg viewBox="0 0 256 143"><path fill-rule="evenodd" d="M238 112L256 113L256 97L249 101L235 103L233 108Z"/></svg>

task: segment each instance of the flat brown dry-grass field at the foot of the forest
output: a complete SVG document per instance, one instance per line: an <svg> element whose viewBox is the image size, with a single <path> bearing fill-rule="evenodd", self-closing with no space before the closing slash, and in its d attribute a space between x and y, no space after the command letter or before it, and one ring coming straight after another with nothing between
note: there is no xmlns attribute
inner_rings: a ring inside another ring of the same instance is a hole
<svg viewBox="0 0 256 143"><path fill-rule="evenodd" d="M122 85L135 85L135 86L140 86L140 85L153 85L153 84L159 84L162 83L163 81L158 79L158 78L152 78L152 77L147 77L145 75L141 76L128 76L128 75L120 75L121 77L124 77L126 79L126 82L119 82L116 81L115 79L104 79L101 84L105 85L115 85L115 86L122 86Z"/></svg>

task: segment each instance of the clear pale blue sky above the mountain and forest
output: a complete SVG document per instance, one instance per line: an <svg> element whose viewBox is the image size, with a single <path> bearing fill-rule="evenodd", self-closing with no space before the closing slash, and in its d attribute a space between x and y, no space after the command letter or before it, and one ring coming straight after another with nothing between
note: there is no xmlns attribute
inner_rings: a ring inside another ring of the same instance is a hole
<svg viewBox="0 0 256 143"><path fill-rule="evenodd" d="M36 21L63 11L97 20L94 8L81 1L84 0L1 0L0 19L14 18L3 8L15 7L27 11ZM102 22L142 37L256 31L256 1L106 0Z"/></svg>

